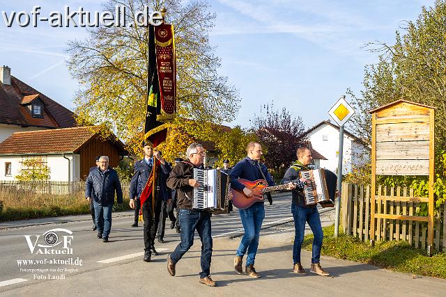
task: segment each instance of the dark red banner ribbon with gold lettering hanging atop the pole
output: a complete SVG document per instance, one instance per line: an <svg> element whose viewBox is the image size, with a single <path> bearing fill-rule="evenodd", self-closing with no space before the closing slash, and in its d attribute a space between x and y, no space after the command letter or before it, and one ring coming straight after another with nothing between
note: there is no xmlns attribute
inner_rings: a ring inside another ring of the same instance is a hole
<svg viewBox="0 0 446 297"><path fill-rule="evenodd" d="M161 24L155 27L155 53L160 83L161 114L157 120L172 120L176 113L176 61L174 26Z"/></svg>

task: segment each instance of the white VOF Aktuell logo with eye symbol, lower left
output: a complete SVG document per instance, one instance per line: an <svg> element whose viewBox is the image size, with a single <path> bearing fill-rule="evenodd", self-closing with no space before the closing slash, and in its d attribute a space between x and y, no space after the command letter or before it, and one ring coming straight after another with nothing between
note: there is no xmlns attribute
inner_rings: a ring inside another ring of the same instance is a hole
<svg viewBox="0 0 446 297"><path fill-rule="evenodd" d="M56 228L41 235L24 235L29 251L34 255L72 255L72 231Z"/></svg>

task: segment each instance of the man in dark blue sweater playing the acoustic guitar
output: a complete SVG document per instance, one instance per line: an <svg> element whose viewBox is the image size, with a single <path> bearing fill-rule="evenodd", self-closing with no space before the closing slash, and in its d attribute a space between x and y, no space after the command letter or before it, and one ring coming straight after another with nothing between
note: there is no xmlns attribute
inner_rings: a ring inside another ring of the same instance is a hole
<svg viewBox="0 0 446 297"><path fill-rule="evenodd" d="M247 156L233 167L229 177L231 178L231 188L234 188L237 191L243 191L247 198L251 198L253 195L252 191L238 182L239 178L247 179L252 182L257 179L264 179L268 182L268 186L274 186L275 183L266 166L259 163L262 156L261 144L256 142L248 143L246 150ZM294 185L290 183L288 189L291 190L292 188L294 188ZM263 201L258 201L246 209L238 209L245 234L240 241L240 246L238 246L236 257L234 258L234 269L238 274L243 274L243 256L247 252L245 273L252 278L261 277L254 268L254 261L256 259L257 248L259 247L259 237L263 218L265 218L265 208L263 204Z"/></svg>

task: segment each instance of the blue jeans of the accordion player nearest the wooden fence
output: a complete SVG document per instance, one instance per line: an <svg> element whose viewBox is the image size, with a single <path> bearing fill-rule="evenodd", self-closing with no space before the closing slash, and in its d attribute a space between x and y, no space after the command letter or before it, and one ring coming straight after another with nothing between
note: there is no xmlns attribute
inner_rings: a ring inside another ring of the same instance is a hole
<svg viewBox="0 0 446 297"><path fill-rule="evenodd" d="M298 205L291 204L291 213L294 218L294 245L293 245L293 264L300 263L300 250L302 248L302 242L305 236L305 222L308 223L312 229L313 239L313 251L312 251L312 263L319 263L321 258L321 248L323 231L321 226L321 218L319 218L319 212L316 207L299 207Z"/></svg>

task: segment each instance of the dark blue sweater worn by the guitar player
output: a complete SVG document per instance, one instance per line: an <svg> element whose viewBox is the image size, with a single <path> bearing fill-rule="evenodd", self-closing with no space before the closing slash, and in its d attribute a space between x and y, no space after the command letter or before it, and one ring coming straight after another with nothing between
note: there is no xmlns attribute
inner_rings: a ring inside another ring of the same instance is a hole
<svg viewBox="0 0 446 297"><path fill-rule="evenodd" d="M245 188L245 186L238 182L237 179L239 178L247 179L251 182L254 182L257 179L263 179L263 176L261 175L259 168L257 167L257 162L258 161L254 161L248 156L246 156L245 159L243 159L242 161L238 162L236 166L232 168L231 173L229 173L229 177L231 178L231 188L234 188L238 191L243 191L243 188ZM261 163L260 168L263 172L263 175L265 175L266 177L268 186L274 186L275 183L272 180L270 172L268 172L266 166Z"/></svg>

